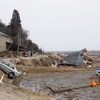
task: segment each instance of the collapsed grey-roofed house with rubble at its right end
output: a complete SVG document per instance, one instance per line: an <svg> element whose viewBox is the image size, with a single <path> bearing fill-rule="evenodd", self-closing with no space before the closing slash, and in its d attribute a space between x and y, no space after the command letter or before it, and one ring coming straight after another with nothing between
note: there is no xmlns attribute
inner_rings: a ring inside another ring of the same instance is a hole
<svg viewBox="0 0 100 100"><path fill-rule="evenodd" d="M86 51L81 50L70 53L68 56L63 58L60 65L91 67L92 63L92 58L87 55Z"/></svg>

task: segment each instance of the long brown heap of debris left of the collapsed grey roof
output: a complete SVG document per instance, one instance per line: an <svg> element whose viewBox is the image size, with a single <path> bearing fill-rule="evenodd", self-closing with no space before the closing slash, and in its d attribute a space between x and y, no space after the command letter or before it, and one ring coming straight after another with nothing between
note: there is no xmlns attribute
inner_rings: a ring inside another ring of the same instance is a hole
<svg viewBox="0 0 100 100"><path fill-rule="evenodd" d="M39 57L39 59L16 59L12 62L20 66L33 66L33 67L56 67L62 58L58 55L48 55L47 57Z"/></svg>

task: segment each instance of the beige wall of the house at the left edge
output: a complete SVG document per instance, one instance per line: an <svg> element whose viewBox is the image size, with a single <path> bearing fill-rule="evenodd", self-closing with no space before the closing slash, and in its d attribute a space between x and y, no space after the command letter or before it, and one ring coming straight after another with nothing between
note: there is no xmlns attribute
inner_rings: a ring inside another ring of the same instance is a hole
<svg viewBox="0 0 100 100"><path fill-rule="evenodd" d="M12 43L12 39L5 35L0 35L0 51L6 50L6 42Z"/></svg>

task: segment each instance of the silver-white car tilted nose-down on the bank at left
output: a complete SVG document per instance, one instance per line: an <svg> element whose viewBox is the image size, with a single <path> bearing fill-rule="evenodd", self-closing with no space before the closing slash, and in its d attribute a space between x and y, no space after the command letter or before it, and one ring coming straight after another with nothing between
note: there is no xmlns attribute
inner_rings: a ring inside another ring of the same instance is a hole
<svg viewBox="0 0 100 100"><path fill-rule="evenodd" d="M0 69L6 72L11 79L21 75L21 72L16 69L15 65L8 61L0 61Z"/></svg>

